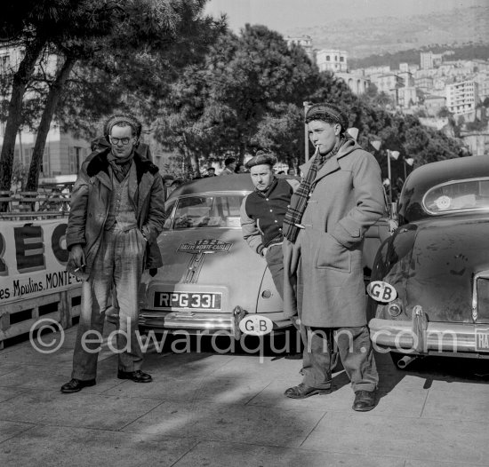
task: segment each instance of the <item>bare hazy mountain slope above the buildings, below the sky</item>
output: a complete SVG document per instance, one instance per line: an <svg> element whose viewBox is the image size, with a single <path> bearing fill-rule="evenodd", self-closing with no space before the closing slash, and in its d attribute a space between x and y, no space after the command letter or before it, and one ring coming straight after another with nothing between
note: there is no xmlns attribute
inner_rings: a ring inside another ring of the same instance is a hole
<svg viewBox="0 0 489 467"><path fill-rule="evenodd" d="M293 28L288 36L310 36L317 49L348 51L351 58L420 49L431 44L489 44L489 4L458 8L443 14L405 18L375 17Z"/></svg>

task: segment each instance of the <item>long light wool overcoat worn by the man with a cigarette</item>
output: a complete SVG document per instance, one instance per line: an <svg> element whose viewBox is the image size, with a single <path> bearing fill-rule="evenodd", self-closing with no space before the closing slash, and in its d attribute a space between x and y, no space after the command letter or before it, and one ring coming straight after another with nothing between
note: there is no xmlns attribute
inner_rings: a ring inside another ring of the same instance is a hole
<svg viewBox="0 0 489 467"><path fill-rule="evenodd" d="M379 163L353 139L317 171L301 221L305 228L284 247L285 313L298 310L311 327L365 326L363 239L385 211L382 190ZM295 297L291 280L297 281Z"/></svg>

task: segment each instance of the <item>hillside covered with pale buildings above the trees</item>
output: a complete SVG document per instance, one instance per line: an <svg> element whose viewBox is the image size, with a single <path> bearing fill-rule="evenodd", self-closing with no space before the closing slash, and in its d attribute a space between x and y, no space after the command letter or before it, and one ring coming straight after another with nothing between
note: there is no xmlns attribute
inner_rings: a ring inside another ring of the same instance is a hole
<svg viewBox="0 0 489 467"><path fill-rule="evenodd" d="M489 59L454 59L449 48L436 53L426 47L416 60L394 67L387 61L352 68L349 51L318 49L310 36L285 40L300 45L320 71L332 72L358 96L374 94L386 110L416 115L424 126L461 138L471 154L489 154Z"/></svg>

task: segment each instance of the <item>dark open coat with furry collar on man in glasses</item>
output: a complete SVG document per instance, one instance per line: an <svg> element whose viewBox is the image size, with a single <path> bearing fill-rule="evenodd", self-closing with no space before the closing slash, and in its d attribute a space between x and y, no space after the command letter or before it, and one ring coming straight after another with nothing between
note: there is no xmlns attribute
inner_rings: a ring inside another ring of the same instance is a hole
<svg viewBox="0 0 489 467"><path fill-rule="evenodd" d="M90 154L76 178L68 217L67 248L81 244L85 255L84 273L89 275L97 251L100 248L108 209L112 198L112 182L109 176L107 156L110 148ZM164 225L164 188L158 168L136 150L133 162L136 178L129 179L129 197L132 200L140 230L148 227L148 244L145 268L162 265L162 257L156 243ZM70 265L68 264L68 270Z"/></svg>

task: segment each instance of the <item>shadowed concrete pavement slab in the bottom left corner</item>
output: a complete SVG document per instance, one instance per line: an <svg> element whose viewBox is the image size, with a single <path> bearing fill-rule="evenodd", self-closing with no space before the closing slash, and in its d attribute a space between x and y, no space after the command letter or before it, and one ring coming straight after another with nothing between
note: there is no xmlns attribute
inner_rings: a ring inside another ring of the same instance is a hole
<svg viewBox="0 0 489 467"><path fill-rule="evenodd" d="M151 437L121 431L36 426L25 436L0 444L0 464L50 467L94 465L170 466L194 447L196 441Z"/></svg>

